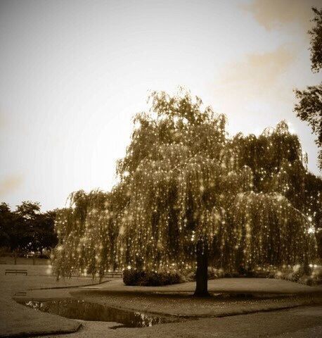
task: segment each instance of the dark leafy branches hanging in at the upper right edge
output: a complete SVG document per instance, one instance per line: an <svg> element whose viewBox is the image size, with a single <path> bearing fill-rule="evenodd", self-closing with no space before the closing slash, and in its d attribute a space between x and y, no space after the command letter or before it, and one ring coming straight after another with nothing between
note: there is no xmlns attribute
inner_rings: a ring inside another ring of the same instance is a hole
<svg viewBox="0 0 322 338"><path fill-rule="evenodd" d="M322 67L322 8L312 8L314 11L314 27L309 30L311 35L311 70L318 73ZM295 105L297 116L311 125L316 134L316 144L320 148L318 165L322 170L322 82L307 89L295 89L299 102Z"/></svg>

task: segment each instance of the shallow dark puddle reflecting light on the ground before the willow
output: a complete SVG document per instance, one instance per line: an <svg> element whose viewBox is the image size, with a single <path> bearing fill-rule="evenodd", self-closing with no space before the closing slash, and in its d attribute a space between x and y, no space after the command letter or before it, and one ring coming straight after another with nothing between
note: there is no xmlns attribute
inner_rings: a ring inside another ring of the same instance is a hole
<svg viewBox="0 0 322 338"><path fill-rule="evenodd" d="M89 303L79 299L58 299L51 301L19 301L28 308L61 315L70 319L92 320L120 323L118 327L146 327L162 323L179 321L172 317L158 317L138 311L124 311L98 303Z"/></svg>

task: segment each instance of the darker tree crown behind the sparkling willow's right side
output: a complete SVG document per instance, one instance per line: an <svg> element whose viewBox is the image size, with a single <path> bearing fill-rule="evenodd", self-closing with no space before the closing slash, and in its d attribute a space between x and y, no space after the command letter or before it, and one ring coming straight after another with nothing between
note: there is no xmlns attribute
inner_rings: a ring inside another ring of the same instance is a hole
<svg viewBox="0 0 322 338"><path fill-rule="evenodd" d="M285 121L256 137L237 134L231 142L239 165L254 175L255 192L279 192L318 227L322 214L321 177L307 170L307 154Z"/></svg>

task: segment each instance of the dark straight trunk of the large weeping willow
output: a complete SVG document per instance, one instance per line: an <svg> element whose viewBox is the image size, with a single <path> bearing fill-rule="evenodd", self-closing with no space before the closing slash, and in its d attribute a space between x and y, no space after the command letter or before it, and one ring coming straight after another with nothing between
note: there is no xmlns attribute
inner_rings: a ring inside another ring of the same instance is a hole
<svg viewBox="0 0 322 338"><path fill-rule="evenodd" d="M197 243L197 271L195 273L195 294L198 297L210 296L208 293L208 246L207 243Z"/></svg>

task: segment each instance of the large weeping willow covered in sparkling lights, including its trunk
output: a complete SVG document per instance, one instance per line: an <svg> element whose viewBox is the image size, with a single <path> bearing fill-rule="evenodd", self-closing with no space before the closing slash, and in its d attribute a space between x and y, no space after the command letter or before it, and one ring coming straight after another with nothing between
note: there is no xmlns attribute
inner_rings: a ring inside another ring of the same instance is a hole
<svg viewBox="0 0 322 338"><path fill-rule="evenodd" d="M296 184L307 170L285 125L230 139L225 116L187 92L155 92L150 102L117 163L120 183L108 194L72 194L58 215L58 273L195 268L195 294L204 296L208 261L234 270L314 256L311 221L288 198L288 165L300 168Z"/></svg>

